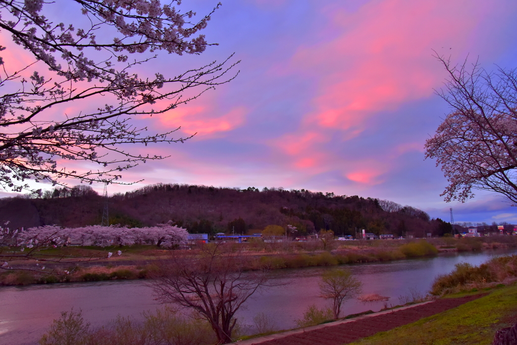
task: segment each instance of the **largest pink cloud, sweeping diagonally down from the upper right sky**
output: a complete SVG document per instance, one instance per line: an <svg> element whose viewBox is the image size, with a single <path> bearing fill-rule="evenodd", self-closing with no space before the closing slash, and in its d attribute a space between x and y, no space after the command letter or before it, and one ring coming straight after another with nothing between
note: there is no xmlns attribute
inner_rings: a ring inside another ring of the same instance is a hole
<svg viewBox="0 0 517 345"><path fill-rule="evenodd" d="M467 48L476 17L486 7L469 5L388 0L370 2L355 13L328 13L333 25L322 36L336 38L300 46L291 61L292 70L319 80L316 110L306 114L306 122L364 128L377 111L432 95L444 79L432 49Z"/></svg>

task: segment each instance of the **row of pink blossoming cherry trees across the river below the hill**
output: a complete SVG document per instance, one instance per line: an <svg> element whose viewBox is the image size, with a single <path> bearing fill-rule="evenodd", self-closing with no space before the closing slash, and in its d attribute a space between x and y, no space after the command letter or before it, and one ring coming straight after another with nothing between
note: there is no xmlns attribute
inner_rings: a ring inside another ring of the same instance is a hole
<svg viewBox="0 0 517 345"><path fill-rule="evenodd" d="M187 230L171 224L158 224L144 228L127 228L120 226L85 226L79 228L62 228L59 226L39 226L20 231L16 234L17 246L32 248L36 245L66 245L70 241L81 245L101 247L114 244L156 244L172 247L187 241Z"/></svg>

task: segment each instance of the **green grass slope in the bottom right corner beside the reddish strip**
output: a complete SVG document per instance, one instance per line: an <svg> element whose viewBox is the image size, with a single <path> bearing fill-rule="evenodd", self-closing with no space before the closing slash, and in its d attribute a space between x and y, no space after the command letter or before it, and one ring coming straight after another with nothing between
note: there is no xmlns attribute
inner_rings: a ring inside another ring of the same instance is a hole
<svg viewBox="0 0 517 345"><path fill-rule="evenodd" d="M451 296L456 297L456 296ZM517 286L492 290L488 296L388 332L356 345L492 344L494 334L517 315Z"/></svg>

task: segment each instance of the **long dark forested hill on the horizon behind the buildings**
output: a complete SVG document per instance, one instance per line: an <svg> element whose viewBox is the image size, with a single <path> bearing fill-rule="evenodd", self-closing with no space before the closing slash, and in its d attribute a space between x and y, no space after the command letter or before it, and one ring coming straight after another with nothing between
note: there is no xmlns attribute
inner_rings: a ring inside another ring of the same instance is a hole
<svg viewBox="0 0 517 345"><path fill-rule="evenodd" d="M300 235L331 229L355 234L403 233L423 237L450 232L450 224L410 206L388 200L337 196L306 190L246 190L197 185L156 184L107 200L110 224L153 226L169 220L191 233L257 232L267 225L297 227ZM105 200L89 186L55 189L42 198L0 199L0 221L9 227L100 224Z"/></svg>

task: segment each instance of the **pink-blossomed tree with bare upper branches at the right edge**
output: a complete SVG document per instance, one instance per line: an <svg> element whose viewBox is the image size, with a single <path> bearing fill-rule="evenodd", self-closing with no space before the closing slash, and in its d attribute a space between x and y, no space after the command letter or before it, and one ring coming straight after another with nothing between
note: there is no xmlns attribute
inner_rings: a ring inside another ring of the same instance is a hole
<svg viewBox="0 0 517 345"><path fill-rule="evenodd" d="M437 56L449 76L441 96L451 113L425 143L449 182L446 201L465 201L473 189L503 194L517 203L517 71L483 70L478 62L453 66Z"/></svg>

